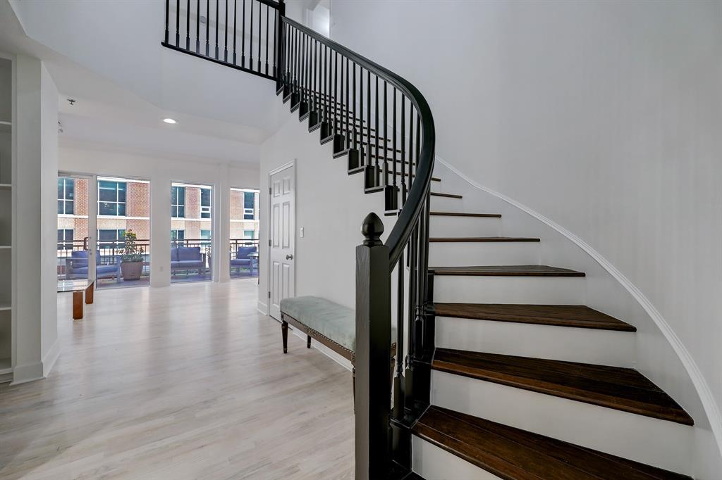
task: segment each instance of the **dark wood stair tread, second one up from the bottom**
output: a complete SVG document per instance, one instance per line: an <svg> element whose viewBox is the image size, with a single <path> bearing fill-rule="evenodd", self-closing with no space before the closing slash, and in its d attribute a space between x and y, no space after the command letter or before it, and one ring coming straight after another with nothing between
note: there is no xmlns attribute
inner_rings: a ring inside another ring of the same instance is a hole
<svg viewBox="0 0 722 480"><path fill-rule="evenodd" d="M632 368L436 349L432 368L483 381L694 425L674 399Z"/></svg>

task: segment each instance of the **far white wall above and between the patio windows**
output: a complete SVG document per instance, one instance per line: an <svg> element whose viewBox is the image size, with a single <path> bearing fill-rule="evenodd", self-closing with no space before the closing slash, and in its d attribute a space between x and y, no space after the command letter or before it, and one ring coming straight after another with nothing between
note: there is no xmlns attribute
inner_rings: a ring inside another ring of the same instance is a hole
<svg viewBox="0 0 722 480"><path fill-rule="evenodd" d="M58 168L62 172L135 177L150 181L150 241L168 245L152 250L150 283L154 287L170 285L170 183L197 182L214 187L213 249L225 252L230 237L228 213L230 187L258 188L257 164L226 164L210 159L163 158L158 154L121 151L102 145L64 141ZM57 169L56 169L57 171ZM225 218L221 221L221 218ZM53 228L55 228L53 219ZM55 234L53 233L53 238ZM213 256L214 281L229 280L229 257Z"/></svg>

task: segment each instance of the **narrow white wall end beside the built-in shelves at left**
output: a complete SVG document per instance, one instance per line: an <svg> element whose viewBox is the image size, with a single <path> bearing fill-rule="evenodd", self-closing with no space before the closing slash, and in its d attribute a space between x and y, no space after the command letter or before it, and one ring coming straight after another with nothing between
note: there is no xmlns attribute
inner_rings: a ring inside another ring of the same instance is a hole
<svg viewBox="0 0 722 480"><path fill-rule="evenodd" d="M58 357L56 236L58 91L41 61L17 56L14 382L48 375Z"/></svg>

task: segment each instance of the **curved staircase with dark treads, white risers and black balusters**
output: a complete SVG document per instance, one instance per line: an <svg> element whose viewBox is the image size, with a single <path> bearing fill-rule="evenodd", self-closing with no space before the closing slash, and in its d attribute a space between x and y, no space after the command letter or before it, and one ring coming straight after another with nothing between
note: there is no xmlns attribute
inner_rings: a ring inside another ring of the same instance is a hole
<svg viewBox="0 0 722 480"><path fill-rule="evenodd" d="M287 19L283 2L259 5L277 9L277 94L320 144L332 143L329 161L346 161L349 175L364 176L363 193L382 195L383 213L398 217L384 245L383 225L370 215L359 247L367 250L357 251L367 256L357 269L370 265L371 272L357 293L357 348L370 347L357 355L367 365L380 355L386 369L372 371L370 383L360 375L357 386L357 463L383 456L376 470L357 466L357 476L689 478L675 472L689 468L694 422L630 368L635 326L583 305L584 272L539 265L539 238L500 236L501 215L482 205L466 211L463 195L444 190L443 175L432 176L430 112L425 116L425 100L408 82ZM164 45L183 51L178 40L167 45L166 18ZM266 78L267 52L266 44ZM235 56L234 44L234 63ZM211 60L224 63L218 54ZM258 74L253 62L235 68ZM419 125L426 130L419 133ZM387 262L377 276L373 252ZM391 318L389 298L374 297L387 288L375 290L376 283L388 281L391 290L391 276L400 332L393 410L384 384L388 357L375 345L385 333L373 326L379 316ZM359 337L363 322L370 333ZM362 365L357 359L357 370ZM388 444L368 440L387 434Z"/></svg>

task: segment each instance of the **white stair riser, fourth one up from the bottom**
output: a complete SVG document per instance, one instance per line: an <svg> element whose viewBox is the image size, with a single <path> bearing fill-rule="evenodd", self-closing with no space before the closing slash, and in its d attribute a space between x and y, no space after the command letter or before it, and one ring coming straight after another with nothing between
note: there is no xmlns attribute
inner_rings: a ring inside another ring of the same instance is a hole
<svg viewBox="0 0 722 480"><path fill-rule="evenodd" d="M435 275L434 301L583 305L585 285L584 277Z"/></svg>

